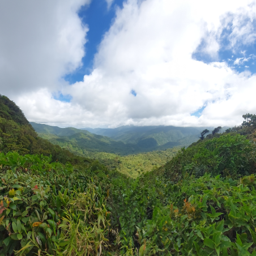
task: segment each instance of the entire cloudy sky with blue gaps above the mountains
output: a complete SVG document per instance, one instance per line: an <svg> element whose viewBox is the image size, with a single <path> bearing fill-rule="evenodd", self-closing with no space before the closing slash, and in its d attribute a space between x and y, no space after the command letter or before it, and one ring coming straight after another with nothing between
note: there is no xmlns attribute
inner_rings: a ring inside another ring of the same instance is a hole
<svg viewBox="0 0 256 256"><path fill-rule="evenodd" d="M0 0L0 94L59 127L256 113L256 0Z"/></svg>

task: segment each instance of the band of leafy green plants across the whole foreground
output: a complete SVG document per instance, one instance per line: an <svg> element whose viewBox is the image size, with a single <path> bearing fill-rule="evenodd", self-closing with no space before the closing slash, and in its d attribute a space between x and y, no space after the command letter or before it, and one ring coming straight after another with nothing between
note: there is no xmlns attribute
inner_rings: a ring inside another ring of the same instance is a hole
<svg viewBox="0 0 256 256"><path fill-rule="evenodd" d="M256 253L254 174L174 184L163 168L133 180L42 155L2 153L0 165L0 255Z"/></svg>

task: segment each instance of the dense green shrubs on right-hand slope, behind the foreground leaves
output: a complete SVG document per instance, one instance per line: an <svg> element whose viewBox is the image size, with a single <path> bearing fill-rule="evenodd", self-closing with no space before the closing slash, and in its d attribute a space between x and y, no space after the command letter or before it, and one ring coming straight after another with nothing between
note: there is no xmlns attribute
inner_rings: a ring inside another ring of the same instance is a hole
<svg viewBox="0 0 256 256"><path fill-rule="evenodd" d="M213 175L248 175L255 172L255 161L254 143L243 135L227 134L182 149L165 165L165 175L174 182L182 176L201 176L206 172Z"/></svg>

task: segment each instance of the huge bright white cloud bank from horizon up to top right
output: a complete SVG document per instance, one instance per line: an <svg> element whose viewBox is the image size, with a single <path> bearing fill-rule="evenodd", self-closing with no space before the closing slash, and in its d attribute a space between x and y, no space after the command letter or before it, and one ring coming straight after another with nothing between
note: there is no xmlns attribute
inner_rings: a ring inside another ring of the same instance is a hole
<svg viewBox="0 0 256 256"><path fill-rule="evenodd" d="M237 74L225 62L196 61L192 54L204 39L204 51L216 55L221 32L230 20L236 21L231 28L231 45L254 40L250 32L256 12L255 5L248 7L250 3L146 0L138 4L129 0L123 9L117 9L116 19L95 56L92 73L84 76L83 82L63 84L62 93L72 96L70 103L54 100L51 86L42 89L41 76L31 79L37 88L16 97L16 101L29 120L59 126L241 123L242 114L256 113L256 76L250 72ZM247 18L250 25L244 22ZM76 28L82 29L79 26ZM86 30L82 31L85 35ZM78 38L81 41L82 37ZM76 38L71 36L72 40ZM79 65L79 57L73 59L71 52L64 54L54 78ZM72 63L69 68L66 59ZM44 76L49 77L48 72L52 72L46 71ZM49 84L54 84L50 79ZM136 97L131 90L136 91ZM207 106L202 116L190 116L203 105Z"/></svg>

